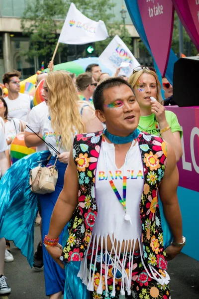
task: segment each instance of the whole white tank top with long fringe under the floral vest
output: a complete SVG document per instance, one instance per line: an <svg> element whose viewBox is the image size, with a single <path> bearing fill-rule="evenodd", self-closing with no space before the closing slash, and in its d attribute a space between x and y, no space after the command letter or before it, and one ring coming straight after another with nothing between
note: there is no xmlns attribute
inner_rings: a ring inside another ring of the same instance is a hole
<svg viewBox="0 0 199 299"><path fill-rule="evenodd" d="M108 173L107 173L108 172ZM123 176L126 176L126 212L123 205L119 202L117 196L115 195L109 180L112 180L117 191L119 192L121 198L123 198L122 183ZM92 231L91 240L88 246L90 248L91 243L96 244L97 250L96 257L94 258L94 246L91 255L90 271L87 273L87 254L85 255L83 261L81 262L81 268L78 276L83 280L83 283L87 285L89 291L94 291L94 275L92 277L91 270L92 267L97 263L97 259L100 257L101 269L100 269L100 284L97 290L98 294L102 294L102 250L108 253L107 250L107 236L109 236L111 241L111 252L115 256L114 272L117 270L122 273L121 279L121 295L125 294L125 290L128 295L130 295L131 290L131 279L132 279L132 265L129 263L128 275L125 271L125 262L127 255L130 253L130 257L133 258L135 251L135 244L138 240L139 250L141 254L142 264L145 270L142 250L142 227L140 220L140 208L139 204L141 201L141 196L143 192L144 185L144 172L142 157L139 149L138 143L134 145L134 141L127 152L124 165L121 168L117 168L115 164L115 148L113 144L108 144L103 141L100 149L100 156L98 160L98 165L96 169L95 176L95 187L96 187L96 202L98 206L98 215L95 221L95 225ZM126 218L125 215L128 215ZM129 220L126 220L129 219ZM121 247L124 244L123 250L123 260L119 261L121 254ZM128 248L130 247L130 252ZM87 250L87 253L88 253ZM99 260L98 260L99 262ZM93 266L92 266L93 264ZM108 264L108 263L107 263ZM150 265L147 265L148 267ZM160 284L168 283L167 279L163 278L158 274L158 272L153 269L152 266L149 267L151 274L149 276L154 278ZM154 272L156 274L154 274ZM157 276L158 274L158 276ZM107 276L108 276L108 265L105 266L105 286L107 293ZM115 296L115 276L113 276L113 286L111 296Z"/></svg>

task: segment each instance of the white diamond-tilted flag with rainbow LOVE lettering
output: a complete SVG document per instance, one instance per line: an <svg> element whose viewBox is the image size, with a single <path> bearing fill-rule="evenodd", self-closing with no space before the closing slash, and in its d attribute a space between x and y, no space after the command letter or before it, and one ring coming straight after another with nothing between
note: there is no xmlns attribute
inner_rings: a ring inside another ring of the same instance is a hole
<svg viewBox="0 0 199 299"><path fill-rule="evenodd" d="M118 35L115 35L98 59L112 72L121 66L119 75L127 77L132 74L134 67L140 65Z"/></svg>

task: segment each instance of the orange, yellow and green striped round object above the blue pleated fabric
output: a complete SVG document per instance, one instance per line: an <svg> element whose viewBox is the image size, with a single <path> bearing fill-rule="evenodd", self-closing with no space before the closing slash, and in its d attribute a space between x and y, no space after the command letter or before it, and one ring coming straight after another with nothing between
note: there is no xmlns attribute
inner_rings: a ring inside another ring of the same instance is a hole
<svg viewBox="0 0 199 299"><path fill-rule="evenodd" d="M24 133L20 133L17 135L10 147L10 157L12 163L16 162L17 160L23 158L24 156L36 152L36 148L27 148L25 146L25 141L24 141Z"/></svg>

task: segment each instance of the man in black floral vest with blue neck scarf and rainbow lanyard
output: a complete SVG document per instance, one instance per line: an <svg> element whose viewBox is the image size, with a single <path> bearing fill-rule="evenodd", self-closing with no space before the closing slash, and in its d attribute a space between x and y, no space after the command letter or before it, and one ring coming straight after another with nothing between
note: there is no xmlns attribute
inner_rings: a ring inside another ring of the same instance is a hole
<svg viewBox="0 0 199 299"><path fill-rule="evenodd" d="M174 150L137 129L139 105L123 79L103 81L93 101L106 129L75 137L44 245L61 267L81 261L78 277L90 293L73 298L170 299L167 260L186 243ZM173 234L166 249L158 195ZM58 237L69 221L62 251Z"/></svg>

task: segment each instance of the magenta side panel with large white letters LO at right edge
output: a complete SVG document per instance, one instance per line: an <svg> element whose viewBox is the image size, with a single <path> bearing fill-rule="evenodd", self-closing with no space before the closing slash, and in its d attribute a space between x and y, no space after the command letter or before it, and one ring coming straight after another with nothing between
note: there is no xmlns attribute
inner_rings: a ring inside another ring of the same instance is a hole
<svg viewBox="0 0 199 299"><path fill-rule="evenodd" d="M178 162L179 186L199 192L199 107L168 106L183 128L183 156Z"/></svg>

